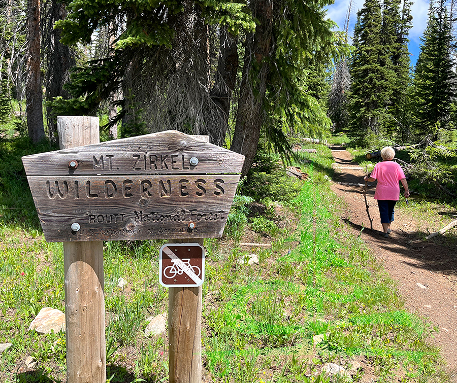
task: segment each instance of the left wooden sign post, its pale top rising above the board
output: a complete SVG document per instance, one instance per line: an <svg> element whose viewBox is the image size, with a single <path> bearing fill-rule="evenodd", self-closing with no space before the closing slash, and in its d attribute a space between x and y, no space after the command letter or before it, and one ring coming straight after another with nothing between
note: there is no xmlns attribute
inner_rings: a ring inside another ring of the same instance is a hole
<svg viewBox="0 0 457 383"><path fill-rule="evenodd" d="M97 117L57 117L60 149L100 142ZM105 383L103 241L63 242L68 383Z"/></svg>

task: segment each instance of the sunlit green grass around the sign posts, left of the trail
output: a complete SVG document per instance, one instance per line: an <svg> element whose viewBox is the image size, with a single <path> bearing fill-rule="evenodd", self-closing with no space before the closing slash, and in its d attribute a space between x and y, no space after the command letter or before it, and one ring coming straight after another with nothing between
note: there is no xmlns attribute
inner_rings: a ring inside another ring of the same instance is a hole
<svg viewBox="0 0 457 383"><path fill-rule="evenodd" d="M257 173L252 179L259 185L274 182L262 191L266 214L249 216L252 200L237 197L226 236L205 240L205 377L224 383L336 382L342 379L320 374L323 364L348 366L364 357L378 382L395 381L397 375L402 382L421 382L423 376L450 381L442 372L439 351L426 341L434 329L403 308L394 281L365 243L342 226L342 201L325 178L333 174L332 156L328 148L317 148L317 154L298 156L311 181L292 185L278 170L274 177ZM3 150L16 153L16 159L22 151L14 146ZM0 168L0 174L3 185L26 190L18 165ZM278 204L277 194L285 187L290 194ZM251 185L244 190L252 190ZM0 204L20 203L20 209L0 222L0 343L13 343L0 355L0 380L59 382L66 374L64 334L44 336L27 328L44 306L64 310L62 246L42 239L27 193L15 196L0 187ZM282 206L283 220L297 225L279 229L272 206ZM246 227L268 234L272 247L241 251L237 243ZM112 383L168 381L167 339L144 336L146 319L167 312L168 292L157 281L162 243L105 242L107 370ZM252 252L259 257L258 265L239 262ZM119 277L127 281L124 289L117 286ZM323 341L313 344L313 336L320 334ZM29 355L38 366L24 373L20 366ZM354 373L354 381L362 375Z"/></svg>

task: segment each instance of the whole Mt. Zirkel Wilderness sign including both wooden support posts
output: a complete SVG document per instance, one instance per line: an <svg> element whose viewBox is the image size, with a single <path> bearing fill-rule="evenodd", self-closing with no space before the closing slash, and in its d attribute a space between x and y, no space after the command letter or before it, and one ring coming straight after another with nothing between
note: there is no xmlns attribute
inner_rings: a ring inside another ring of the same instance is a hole
<svg viewBox="0 0 457 383"><path fill-rule="evenodd" d="M106 380L102 241L222 236L244 162L173 130L99 143L95 120L58 117L61 150L22 158L44 236L64 242L69 383ZM168 282L194 283L169 290L170 383L200 382L204 268L164 251Z"/></svg>

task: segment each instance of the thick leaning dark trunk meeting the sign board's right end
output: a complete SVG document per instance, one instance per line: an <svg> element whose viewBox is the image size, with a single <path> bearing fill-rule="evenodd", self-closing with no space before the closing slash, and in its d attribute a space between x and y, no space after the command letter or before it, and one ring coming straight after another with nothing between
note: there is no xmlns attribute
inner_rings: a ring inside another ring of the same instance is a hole
<svg viewBox="0 0 457 383"><path fill-rule="evenodd" d="M246 157L241 171L243 176L247 175L252 165L260 128L265 121L263 101L269 75L268 56L272 50L273 1L252 0L250 7L259 24L255 33L248 33L246 37L241 95L230 148Z"/></svg>

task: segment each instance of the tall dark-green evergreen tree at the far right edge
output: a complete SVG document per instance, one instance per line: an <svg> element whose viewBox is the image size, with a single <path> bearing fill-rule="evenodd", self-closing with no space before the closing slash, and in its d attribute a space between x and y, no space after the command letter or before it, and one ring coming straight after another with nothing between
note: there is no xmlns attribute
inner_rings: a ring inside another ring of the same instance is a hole
<svg viewBox="0 0 457 383"><path fill-rule="evenodd" d="M451 23L444 0L431 2L427 28L414 75L415 132L438 138L438 130L450 129L455 97L454 60L451 55Z"/></svg>

